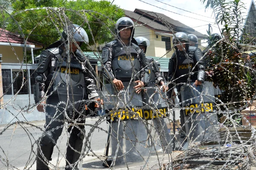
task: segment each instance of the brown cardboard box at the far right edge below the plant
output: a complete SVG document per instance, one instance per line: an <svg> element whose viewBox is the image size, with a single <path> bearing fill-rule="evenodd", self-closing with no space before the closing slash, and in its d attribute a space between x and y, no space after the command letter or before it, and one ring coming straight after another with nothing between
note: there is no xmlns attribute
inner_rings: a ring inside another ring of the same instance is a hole
<svg viewBox="0 0 256 170"><path fill-rule="evenodd" d="M253 102L256 105L256 102ZM251 126L256 126L256 106L252 105L241 111L242 115L242 124L248 126L249 123Z"/></svg>

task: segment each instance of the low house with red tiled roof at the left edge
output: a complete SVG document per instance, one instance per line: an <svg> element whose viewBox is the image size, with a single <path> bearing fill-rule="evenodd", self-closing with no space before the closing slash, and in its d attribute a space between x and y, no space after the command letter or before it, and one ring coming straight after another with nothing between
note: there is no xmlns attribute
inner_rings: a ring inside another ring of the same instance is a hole
<svg viewBox="0 0 256 170"><path fill-rule="evenodd" d="M32 108L32 86L35 83L37 65L25 64L27 55L24 55L29 51L33 58L33 50L41 48L39 43L25 41L12 32L0 29L0 124L45 118L44 113Z"/></svg>

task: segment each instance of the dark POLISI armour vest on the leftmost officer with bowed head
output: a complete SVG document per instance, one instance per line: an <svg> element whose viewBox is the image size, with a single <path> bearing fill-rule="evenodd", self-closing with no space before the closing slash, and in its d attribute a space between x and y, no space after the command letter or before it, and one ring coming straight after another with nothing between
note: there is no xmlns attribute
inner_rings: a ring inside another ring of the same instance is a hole
<svg viewBox="0 0 256 170"><path fill-rule="evenodd" d="M67 56L60 53L53 55L54 71L49 73L46 81L46 86L50 86L48 94L52 92L52 95L58 95L59 101L68 103L67 110L79 110L86 94L81 61L70 55L70 63L67 63Z"/></svg>

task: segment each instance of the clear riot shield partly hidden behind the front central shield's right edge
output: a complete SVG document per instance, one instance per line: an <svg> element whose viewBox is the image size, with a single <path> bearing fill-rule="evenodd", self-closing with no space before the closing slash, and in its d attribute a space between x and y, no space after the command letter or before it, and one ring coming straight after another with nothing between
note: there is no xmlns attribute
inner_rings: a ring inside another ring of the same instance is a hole
<svg viewBox="0 0 256 170"><path fill-rule="evenodd" d="M171 153L171 136L166 124L169 117L166 94L156 86L147 87L143 93L143 104L145 120L153 120L152 126L160 137L163 151Z"/></svg>

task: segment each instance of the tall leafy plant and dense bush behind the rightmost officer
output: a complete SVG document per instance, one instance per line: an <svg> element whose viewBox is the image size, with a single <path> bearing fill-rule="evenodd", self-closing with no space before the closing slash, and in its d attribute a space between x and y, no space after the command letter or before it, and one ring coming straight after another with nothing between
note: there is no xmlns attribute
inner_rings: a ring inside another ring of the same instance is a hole
<svg viewBox="0 0 256 170"><path fill-rule="evenodd" d="M253 69L244 66L242 58L241 40L243 35L242 10L244 3L241 0L201 0L205 8L213 10L215 23L223 26L222 34L225 38L215 41L206 54L208 81L212 81L223 92L219 99L224 103L221 110L233 110L232 114L239 113L247 100L255 93L255 74ZM208 31L209 40L212 41L211 32ZM219 118L223 114L219 115ZM239 116L233 117L241 121ZM230 121L225 121L229 124Z"/></svg>

